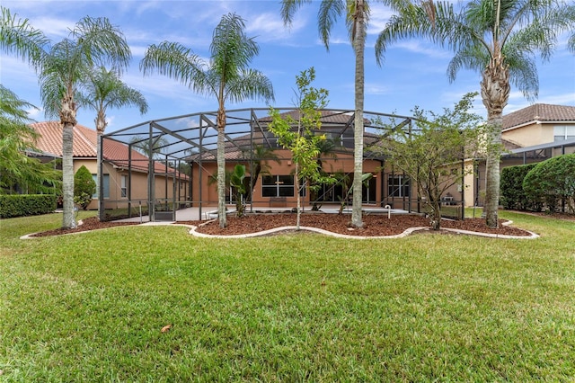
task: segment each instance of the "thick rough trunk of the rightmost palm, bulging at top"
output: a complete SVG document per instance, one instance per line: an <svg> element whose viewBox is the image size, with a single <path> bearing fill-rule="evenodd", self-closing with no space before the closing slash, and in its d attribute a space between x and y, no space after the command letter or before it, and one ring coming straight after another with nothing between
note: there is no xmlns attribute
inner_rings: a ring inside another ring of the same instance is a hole
<svg viewBox="0 0 575 383"><path fill-rule="evenodd" d="M488 227L499 227L500 154L503 108L509 100L509 69L492 58L482 74L482 102L487 109L487 163L484 214Z"/></svg>

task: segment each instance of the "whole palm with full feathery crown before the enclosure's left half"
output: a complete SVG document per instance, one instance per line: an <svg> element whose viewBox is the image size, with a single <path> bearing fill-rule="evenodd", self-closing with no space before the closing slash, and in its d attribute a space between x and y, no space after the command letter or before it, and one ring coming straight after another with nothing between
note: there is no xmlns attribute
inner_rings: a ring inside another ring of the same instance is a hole
<svg viewBox="0 0 575 383"><path fill-rule="evenodd" d="M227 13L214 30L207 63L191 49L177 42L151 45L140 68L146 76L153 70L179 80L199 94L216 96L217 108L217 214L219 226L226 227L226 102L246 99L273 100L268 77L248 65L260 51L253 38L245 34L243 19Z"/></svg>

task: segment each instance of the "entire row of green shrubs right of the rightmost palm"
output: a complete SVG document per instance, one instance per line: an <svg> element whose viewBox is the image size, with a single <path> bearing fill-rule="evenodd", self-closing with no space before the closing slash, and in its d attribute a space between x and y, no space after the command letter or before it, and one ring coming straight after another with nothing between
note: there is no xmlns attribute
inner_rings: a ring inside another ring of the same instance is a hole
<svg viewBox="0 0 575 383"><path fill-rule="evenodd" d="M575 154L501 171L501 204L506 209L575 209Z"/></svg>

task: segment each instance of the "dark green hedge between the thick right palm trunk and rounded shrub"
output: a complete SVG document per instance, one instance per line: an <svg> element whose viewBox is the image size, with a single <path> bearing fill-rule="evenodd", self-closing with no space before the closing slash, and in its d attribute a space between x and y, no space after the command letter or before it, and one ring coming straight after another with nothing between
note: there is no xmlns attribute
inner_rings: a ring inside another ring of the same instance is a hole
<svg viewBox="0 0 575 383"><path fill-rule="evenodd" d="M509 166L501 169L500 204L505 209L541 210L541 203L530 199L523 190L523 179L535 165L537 164Z"/></svg>

